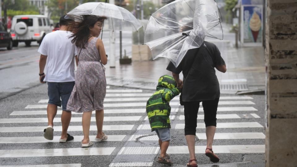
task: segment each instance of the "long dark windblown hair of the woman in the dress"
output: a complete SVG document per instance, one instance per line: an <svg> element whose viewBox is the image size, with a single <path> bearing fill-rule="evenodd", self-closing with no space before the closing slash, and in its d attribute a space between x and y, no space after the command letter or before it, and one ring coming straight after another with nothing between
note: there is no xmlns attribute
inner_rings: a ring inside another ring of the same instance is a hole
<svg viewBox="0 0 297 167"><path fill-rule="evenodd" d="M103 22L106 17L94 16L94 15L83 15L81 22L74 22L70 24L67 28L67 31L71 31L73 37L71 42L75 44L78 48L84 48L84 45L87 43L90 36L90 29L94 27L97 21Z"/></svg>

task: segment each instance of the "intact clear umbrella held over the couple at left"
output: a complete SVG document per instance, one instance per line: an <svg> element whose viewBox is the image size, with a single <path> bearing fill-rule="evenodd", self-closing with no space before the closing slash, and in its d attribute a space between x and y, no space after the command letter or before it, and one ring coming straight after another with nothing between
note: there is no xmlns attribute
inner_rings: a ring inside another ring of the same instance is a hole
<svg viewBox="0 0 297 167"><path fill-rule="evenodd" d="M88 2L75 7L67 16L81 21L83 15L105 16L109 19L109 29L131 31L142 27L140 22L127 9L105 2Z"/></svg>

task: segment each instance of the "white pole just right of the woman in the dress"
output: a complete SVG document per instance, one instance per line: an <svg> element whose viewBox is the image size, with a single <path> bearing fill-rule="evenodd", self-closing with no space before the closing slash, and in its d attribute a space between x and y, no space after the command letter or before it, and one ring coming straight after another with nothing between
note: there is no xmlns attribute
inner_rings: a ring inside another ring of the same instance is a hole
<svg viewBox="0 0 297 167"><path fill-rule="evenodd" d="M109 3L114 4L114 0L110 0ZM111 19L109 20L109 24L112 24ZM110 46L110 55L108 56L109 66L110 68L115 68L115 35L113 30L110 31L109 46Z"/></svg>

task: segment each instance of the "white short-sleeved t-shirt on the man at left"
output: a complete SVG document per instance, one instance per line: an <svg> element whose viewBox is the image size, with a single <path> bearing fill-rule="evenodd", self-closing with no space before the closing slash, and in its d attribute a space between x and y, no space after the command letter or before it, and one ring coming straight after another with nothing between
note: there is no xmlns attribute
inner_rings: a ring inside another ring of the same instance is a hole
<svg viewBox="0 0 297 167"><path fill-rule="evenodd" d="M76 46L69 38L72 32L58 30L45 35L38 49L40 54L47 56L45 79L48 82L75 81Z"/></svg>

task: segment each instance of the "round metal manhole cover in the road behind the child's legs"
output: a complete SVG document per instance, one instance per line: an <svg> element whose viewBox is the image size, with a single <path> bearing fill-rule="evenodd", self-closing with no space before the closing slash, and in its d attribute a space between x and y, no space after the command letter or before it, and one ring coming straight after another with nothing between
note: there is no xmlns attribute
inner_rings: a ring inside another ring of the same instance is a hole
<svg viewBox="0 0 297 167"><path fill-rule="evenodd" d="M159 146L159 138L157 135L143 135L136 138L136 142L149 144L152 146ZM198 137L195 136L195 141L198 141ZM184 144L187 145L187 141L184 135L171 135L170 144Z"/></svg>

